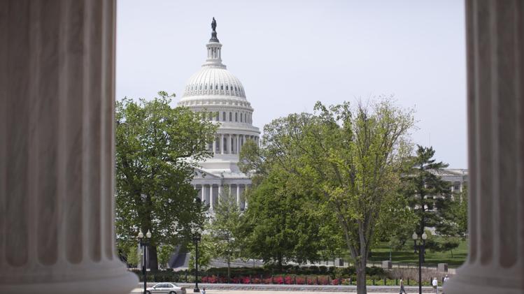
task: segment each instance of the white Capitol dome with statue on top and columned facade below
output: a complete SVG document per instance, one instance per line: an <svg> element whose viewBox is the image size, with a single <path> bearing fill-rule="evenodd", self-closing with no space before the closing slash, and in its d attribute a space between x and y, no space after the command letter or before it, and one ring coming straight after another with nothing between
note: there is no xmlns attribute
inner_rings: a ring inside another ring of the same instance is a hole
<svg viewBox="0 0 524 294"><path fill-rule="evenodd" d="M213 158L195 167L196 176L191 183L210 210L226 186L244 210L247 203L242 196L251 180L239 170L237 163L240 150L248 140L259 143L260 131L253 126L253 108L242 83L222 64L222 44L217 38L214 17L211 27L206 62L187 81L178 102L179 106L194 112L208 112L208 119L220 125L213 144L208 146L213 150Z"/></svg>

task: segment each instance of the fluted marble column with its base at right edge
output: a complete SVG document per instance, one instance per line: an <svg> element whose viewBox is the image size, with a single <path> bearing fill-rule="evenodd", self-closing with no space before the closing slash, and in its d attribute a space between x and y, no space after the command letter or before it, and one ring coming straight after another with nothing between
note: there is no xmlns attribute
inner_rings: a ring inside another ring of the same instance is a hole
<svg viewBox="0 0 524 294"><path fill-rule="evenodd" d="M469 255L446 294L524 292L524 6L469 0Z"/></svg>

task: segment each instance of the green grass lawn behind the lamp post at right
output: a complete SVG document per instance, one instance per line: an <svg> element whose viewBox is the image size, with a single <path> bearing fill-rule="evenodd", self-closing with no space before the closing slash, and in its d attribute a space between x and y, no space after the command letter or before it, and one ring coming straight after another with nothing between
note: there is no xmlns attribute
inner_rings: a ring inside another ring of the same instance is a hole
<svg viewBox="0 0 524 294"><path fill-rule="evenodd" d="M401 251L392 251L391 259L393 263L418 263L418 253L413 251L413 242L409 242L411 247L403 249ZM390 247L387 242L378 244L378 247L373 248L371 253L370 261L381 262L383 260L390 259ZM467 240L460 240L460 244L457 249L453 250L453 256L450 251L446 252L433 252L426 250L425 264L426 265L437 265L437 263L448 263L452 267L458 267L464 263L467 257Z"/></svg>

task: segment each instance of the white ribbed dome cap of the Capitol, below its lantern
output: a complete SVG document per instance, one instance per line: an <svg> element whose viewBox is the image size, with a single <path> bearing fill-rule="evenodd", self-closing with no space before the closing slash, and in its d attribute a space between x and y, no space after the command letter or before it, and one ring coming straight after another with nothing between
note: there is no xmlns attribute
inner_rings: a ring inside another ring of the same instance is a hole
<svg viewBox="0 0 524 294"><path fill-rule="evenodd" d="M187 81L183 97L203 95L246 98L242 83L225 66L204 65Z"/></svg>

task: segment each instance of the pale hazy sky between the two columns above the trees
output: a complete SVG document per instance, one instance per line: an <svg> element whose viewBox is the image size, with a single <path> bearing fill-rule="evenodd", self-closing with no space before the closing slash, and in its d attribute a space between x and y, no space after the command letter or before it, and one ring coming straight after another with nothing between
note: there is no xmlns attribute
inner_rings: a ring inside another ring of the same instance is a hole
<svg viewBox="0 0 524 294"><path fill-rule="evenodd" d="M117 4L116 98L183 94L206 59L211 20L253 124L393 96L415 110L414 143L467 168L464 2L138 1Z"/></svg>

